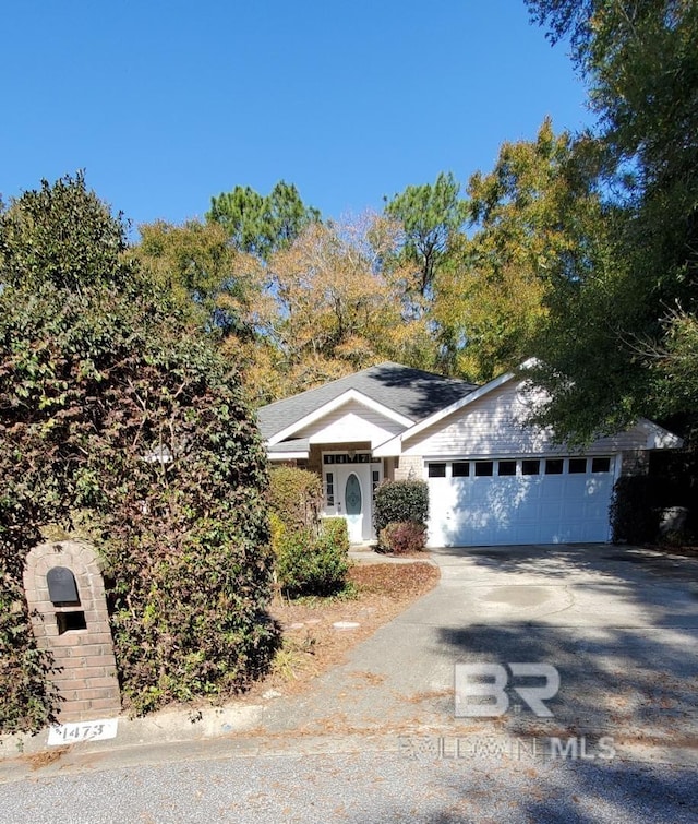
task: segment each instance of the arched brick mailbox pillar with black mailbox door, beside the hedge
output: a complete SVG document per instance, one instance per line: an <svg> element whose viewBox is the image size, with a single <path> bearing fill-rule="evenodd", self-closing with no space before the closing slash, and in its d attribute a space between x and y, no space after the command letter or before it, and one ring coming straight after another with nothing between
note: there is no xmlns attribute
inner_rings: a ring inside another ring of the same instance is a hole
<svg viewBox="0 0 698 824"><path fill-rule="evenodd" d="M37 645L56 659L50 679L63 698L59 720L117 715L119 682L97 552L74 540L35 547L24 590Z"/></svg>

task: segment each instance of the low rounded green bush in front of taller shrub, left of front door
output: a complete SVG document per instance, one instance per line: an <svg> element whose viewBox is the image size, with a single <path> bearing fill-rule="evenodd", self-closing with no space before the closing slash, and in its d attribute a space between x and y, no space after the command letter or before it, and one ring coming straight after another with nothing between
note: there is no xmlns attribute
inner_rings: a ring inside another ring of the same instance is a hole
<svg viewBox="0 0 698 824"><path fill-rule="evenodd" d="M344 518L323 520L318 536L310 529L282 530L276 561L281 589L291 597L339 592L349 569L348 550Z"/></svg>

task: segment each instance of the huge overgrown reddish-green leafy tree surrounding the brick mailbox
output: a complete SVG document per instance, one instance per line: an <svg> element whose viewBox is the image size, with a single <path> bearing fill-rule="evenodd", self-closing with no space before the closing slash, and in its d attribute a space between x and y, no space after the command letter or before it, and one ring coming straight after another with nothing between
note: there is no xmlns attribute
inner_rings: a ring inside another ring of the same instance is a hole
<svg viewBox="0 0 698 824"><path fill-rule="evenodd" d="M56 709L21 578L47 528L105 560L127 707L243 688L276 635L266 462L236 374L81 175L2 211L0 287L0 728Z"/></svg>

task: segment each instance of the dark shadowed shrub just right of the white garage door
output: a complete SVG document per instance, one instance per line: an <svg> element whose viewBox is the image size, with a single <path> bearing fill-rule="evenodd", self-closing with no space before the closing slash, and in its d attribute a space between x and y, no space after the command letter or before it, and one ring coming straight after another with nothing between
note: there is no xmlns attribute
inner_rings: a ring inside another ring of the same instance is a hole
<svg viewBox="0 0 698 824"><path fill-rule="evenodd" d="M660 523L658 482L648 475L618 478L611 499L613 542L650 544Z"/></svg>

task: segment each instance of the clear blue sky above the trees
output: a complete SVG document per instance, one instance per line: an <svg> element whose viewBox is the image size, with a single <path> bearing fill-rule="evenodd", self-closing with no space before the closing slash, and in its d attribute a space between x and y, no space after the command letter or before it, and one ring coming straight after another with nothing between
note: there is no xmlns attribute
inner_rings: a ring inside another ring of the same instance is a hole
<svg viewBox="0 0 698 824"><path fill-rule="evenodd" d="M591 123L524 0L4 0L0 192L84 168L135 225L280 179L339 218Z"/></svg>

